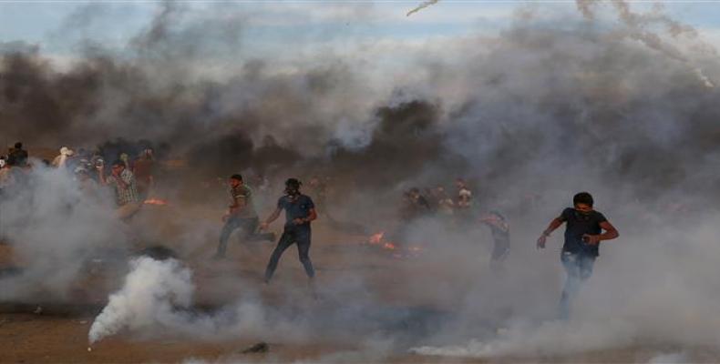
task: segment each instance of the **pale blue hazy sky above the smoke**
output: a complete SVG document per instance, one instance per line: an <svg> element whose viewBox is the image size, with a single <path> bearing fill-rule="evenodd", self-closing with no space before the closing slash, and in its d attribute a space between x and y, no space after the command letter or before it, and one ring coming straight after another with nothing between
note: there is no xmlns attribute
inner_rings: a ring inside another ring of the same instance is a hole
<svg viewBox="0 0 720 364"><path fill-rule="evenodd" d="M358 45L419 45L447 37L493 34L519 12L535 16L563 15L580 21L574 1L440 1L414 15L420 1L235 1L181 2L185 21L237 21L246 54L280 56L331 47L355 52ZM633 10L662 4L674 19L697 28L705 41L720 45L720 2L631 1ZM46 53L68 57L80 40L89 39L121 51L132 35L147 28L159 12L155 1L0 1L0 42L24 41ZM600 14L612 14L608 4ZM192 20L194 19L194 20ZM557 22L557 19L553 19Z"/></svg>

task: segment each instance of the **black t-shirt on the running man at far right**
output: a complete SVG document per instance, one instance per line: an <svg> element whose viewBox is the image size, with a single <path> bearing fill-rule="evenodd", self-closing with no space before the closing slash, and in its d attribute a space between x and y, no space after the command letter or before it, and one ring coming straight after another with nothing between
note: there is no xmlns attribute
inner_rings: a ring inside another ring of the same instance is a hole
<svg viewBox="0 0 720 364"><path fill-rule="evenodd" d="M562 210L560 218L567 224L565 227L565 245L562 246L562 251L597 257L600 243L596 245L587 244L582 241L582 236L602 233L600 223L607 221L607 218L598 211L593 210L588 214L582 214L572 207Z"/></svg>

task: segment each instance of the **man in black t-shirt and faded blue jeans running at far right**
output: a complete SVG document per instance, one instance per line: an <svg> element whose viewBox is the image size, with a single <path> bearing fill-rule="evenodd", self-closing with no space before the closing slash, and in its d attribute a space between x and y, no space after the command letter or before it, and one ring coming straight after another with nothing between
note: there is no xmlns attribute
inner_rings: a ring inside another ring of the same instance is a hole
<svg viewBox="0 0 720 364"><path fill-rule="evenodd" d="M562 288L560 301L561 319L570 316L571 300L580 289L581 283L592 275L592 266L598 257L602 240L618 237L618 231L600 212L592 209L592 196L581 192L572 197L573 207L565 208L560 217L550 221L550 226L538 238L538 248L545 248L545 239L553 230L566 223L565 244L562 246L561 261L568 278ZM602 230L605 230L602 233Z"/></svg>

